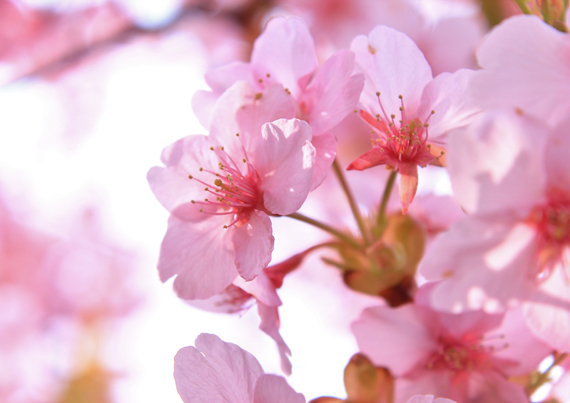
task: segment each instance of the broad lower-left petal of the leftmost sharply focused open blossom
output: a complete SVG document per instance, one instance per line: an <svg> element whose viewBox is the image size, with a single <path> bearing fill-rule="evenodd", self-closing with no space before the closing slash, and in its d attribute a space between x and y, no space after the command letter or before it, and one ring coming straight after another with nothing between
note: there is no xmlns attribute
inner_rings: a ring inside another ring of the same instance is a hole
<svg viewBox="0 0 570 403"><path fill-rule="evenodd" d="M225 216L188 223L175 216L160 247L161 281L177 274L174 290L183 299L205 299L222 292L237 277L231 229Z"/></svg>

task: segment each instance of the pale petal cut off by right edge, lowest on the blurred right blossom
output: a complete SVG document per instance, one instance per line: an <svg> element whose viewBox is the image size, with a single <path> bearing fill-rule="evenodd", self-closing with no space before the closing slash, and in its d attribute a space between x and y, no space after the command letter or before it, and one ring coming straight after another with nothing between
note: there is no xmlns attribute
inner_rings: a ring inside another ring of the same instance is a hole
<svg viewBox="0 0 570 403"><path fill-rule="evenodd" d="M557 265L524 305L530 330L558 351L570 351L570 280L568 268Z"/></svg>

